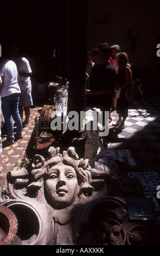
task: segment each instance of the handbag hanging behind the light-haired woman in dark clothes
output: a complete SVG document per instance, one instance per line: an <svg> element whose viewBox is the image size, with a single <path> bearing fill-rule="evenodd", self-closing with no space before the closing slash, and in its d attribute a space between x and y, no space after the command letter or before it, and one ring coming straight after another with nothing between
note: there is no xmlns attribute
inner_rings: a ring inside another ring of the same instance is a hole
<svg viewBox="0 0 160 256"><path fill-rule="evenodd" d="M133 80L131 85L124 90L127 101L132 102L143 96L142 84L140 80Z"/></svg>

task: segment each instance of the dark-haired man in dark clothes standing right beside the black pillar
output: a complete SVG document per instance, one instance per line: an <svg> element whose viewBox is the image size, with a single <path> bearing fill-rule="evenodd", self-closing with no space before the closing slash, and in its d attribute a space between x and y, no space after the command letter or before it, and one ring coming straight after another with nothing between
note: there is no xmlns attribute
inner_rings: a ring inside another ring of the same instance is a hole
<svg viewBox="0 0 160 256"><path fill-rule="evenodd" d="M90 90L86 90L87 106L100 108L103 113L103 125L105 111L110 112L112 105L112 93L116 82L116 70L110 62L111 46L107 42L98 45L99 62L95 63L90 76ZM105 143L106 138L103 138Z"/></svg>

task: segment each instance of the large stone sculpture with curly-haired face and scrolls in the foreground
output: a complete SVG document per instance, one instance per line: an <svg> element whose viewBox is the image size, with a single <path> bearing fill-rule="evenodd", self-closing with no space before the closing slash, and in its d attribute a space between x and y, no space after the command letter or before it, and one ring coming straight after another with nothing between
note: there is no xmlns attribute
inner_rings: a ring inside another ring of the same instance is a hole
<svg viewBox="0 0 160 256"><path fill-rule="evenodd" d="M31 169L9 172L0 204L17 217L12 244L84 244L84 225L90 234L88 245L98 244L91 230L93 220L112 215L123 221L126 216L124 200L107 192L111 178L110 170L91 168L73 147L62 154L60 148L50 147L47 159L34 156Z"/></svg>

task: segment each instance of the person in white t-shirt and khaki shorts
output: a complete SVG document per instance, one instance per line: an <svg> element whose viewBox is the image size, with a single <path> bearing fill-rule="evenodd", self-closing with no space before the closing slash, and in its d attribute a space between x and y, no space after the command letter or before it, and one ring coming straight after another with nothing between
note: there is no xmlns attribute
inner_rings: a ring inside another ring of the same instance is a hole
<svg viewBox="0 0 160 256"><path fill-rule="evenodd" d="M17 52L15 52L17 54ZM33 105L33 99L31 96L31 80L32 71L28 59L17 56L16 60L18 70L18 84L21 89L19 111L22 119L22 126L29 125L30 107ZM25 120L23 121L23 112L25 113Z"/></svg>

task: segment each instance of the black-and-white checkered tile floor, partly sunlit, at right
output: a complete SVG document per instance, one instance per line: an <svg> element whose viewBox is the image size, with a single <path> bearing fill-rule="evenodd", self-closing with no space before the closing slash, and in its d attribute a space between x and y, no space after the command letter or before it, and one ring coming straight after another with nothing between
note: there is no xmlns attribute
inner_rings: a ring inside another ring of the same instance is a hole
<svg viewBox="0 0 160 256"><path fill-rule="evenodd" d="M108 148L130 149L140 171L159 172L160 105L159 97L145 95L130 104L125 129L117 132L112 124L117 121L112 112Z"/></svg>

